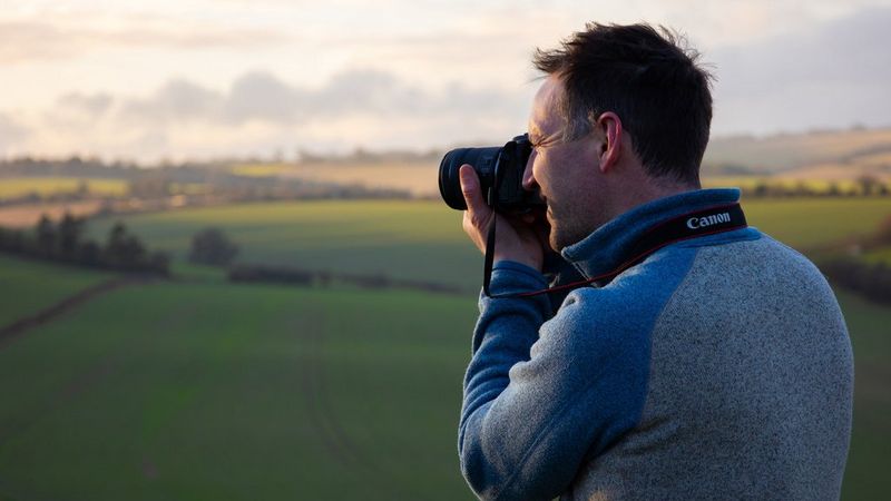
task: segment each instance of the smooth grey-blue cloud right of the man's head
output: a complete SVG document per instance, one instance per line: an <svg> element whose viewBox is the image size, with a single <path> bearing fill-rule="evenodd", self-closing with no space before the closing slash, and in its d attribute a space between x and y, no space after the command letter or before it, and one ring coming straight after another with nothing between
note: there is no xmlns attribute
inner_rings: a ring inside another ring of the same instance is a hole
<svg viewBox="0 0 891 501"><path fill-rule="evenodd" d="M772 132L891 124L891 9L716 50L716 125Z"/></svg>

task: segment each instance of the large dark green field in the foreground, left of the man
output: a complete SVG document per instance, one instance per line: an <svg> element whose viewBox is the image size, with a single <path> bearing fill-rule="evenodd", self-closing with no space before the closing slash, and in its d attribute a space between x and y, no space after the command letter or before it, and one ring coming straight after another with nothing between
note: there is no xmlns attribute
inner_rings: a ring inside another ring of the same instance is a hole
<svg viewBox="0 0 891 501"><path fill-rule="evenodd" d="M468 499L474 313L402 292L102 296L0 351L0 499Z"/></svg>

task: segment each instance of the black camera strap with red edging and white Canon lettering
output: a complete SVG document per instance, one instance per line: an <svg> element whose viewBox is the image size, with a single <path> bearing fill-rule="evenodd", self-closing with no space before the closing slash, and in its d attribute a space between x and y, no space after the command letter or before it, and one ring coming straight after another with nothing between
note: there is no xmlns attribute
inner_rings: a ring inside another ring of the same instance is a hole
<svg viewBox="0 0 891 501"><path fill-rule="evenodd" d="M650 254L667 245L688 240L691 238L734 232L748 226L745 220L743 208L738 203L717 205L682 214L670 219L660 222L644 232L644 234L640 235L634 245L631 245L626 252L625 255L627 257L625 261L611 272L585 281L545 288L541 291L492 295L489 292L489 285L491 283L492 266L495 264L495 222L496 217L492 217L492 220L489 224L489 237L486 240L486 258L482 278L482 291L486 296L490 298L530 297L540 294L578 288L591 284L604 286L621 272L643 262Z"/></svg>

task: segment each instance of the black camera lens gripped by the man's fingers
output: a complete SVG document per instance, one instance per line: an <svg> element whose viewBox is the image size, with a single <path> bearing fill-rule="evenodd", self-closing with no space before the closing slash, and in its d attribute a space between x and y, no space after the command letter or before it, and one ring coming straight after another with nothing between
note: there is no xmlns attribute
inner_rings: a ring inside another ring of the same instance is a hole
<svg viewBox="0 0 891 501"><path fill-rule="evenodd" d="M473 166L480 178L480 193L483 197L495 183L495 165L501 155L498 146L489 148L458 148L446 154L439 165L439 193L446 204L456 210L467 210L461 179L458 169L464 164Z"/></svg>

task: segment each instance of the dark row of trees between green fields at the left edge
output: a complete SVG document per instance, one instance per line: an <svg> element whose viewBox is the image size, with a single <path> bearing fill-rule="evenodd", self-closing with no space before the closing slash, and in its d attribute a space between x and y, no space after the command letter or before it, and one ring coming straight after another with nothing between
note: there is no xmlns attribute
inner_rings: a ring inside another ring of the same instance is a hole
<svg viewBox="0 0 891 501"><path fill-rule="evenodd" d="M65 213L58 223L42 215L30 232L0 227L0 252L91 268L169 275L169 256L149 252L124 223L115 223L105 243L86 239L84 226L84 218Z"/></svg>

